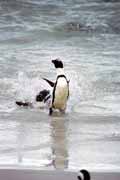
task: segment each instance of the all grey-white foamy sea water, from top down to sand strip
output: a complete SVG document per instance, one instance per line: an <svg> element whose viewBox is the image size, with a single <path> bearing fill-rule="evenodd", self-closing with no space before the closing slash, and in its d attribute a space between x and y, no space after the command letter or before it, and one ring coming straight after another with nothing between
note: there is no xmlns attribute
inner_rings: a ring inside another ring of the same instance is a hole
<svg viewBox="0 0 120 180"><path fill-rule="evenodd" d="M66 114L17 107L70 79ZM120 170L119 0L0 1L0 167Z"/></svg>

